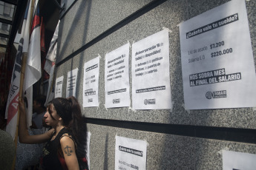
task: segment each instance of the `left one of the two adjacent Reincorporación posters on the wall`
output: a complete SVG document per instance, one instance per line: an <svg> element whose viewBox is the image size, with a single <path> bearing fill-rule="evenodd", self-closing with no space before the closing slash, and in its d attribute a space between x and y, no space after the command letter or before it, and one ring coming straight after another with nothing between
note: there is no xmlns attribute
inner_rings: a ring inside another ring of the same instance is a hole
<svg viewBox="0 0 256 170"><path fill-rule="evenodd" d="M105 55L105 107L130 106L129 47Z"/></svg>

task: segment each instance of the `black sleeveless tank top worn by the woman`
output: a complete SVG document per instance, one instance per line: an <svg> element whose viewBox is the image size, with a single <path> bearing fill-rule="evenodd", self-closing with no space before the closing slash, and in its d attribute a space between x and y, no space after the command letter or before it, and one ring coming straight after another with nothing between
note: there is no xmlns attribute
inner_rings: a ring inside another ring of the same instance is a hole
<svg viewBox="0 0 256 170"><path fill-rule="evenodd" d="M56 132L53 133L53 135L55 134ZM61 152L60 139L64 134L70 135L71 136L70 138L73 140L73 142L76 145L76 141L74 140L72 133L66 128L61 129L59 131L59 134L55 137L55 139L49 140L43 149L42 169L45 169L45 170L67 169L67 166L65 166L65 159L60 154ZM50 137L50 139L53 137L53 135ZM60 160L62 160L62 163L60 162ZM88 164L85 157L82 157L82 158L77 157L77 160L79 162L79 169L88 169Z"/></svg>

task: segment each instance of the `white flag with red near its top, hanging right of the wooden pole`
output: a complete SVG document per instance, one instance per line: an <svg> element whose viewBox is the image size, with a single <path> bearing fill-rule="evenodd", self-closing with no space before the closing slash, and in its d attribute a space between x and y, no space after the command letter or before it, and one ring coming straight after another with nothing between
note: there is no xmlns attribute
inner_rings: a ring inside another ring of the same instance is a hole
<svg viewBox="0 0 256 170"><path fill-rule="evenodd" d="M33 107L33 84L41 78L41 35L40 35L41 18L39 15L39 3L35 1L33 21L30 30L30 44L27 52L27 64L24 74L24 101L26 103L27 126L32 123Z"/></svg>

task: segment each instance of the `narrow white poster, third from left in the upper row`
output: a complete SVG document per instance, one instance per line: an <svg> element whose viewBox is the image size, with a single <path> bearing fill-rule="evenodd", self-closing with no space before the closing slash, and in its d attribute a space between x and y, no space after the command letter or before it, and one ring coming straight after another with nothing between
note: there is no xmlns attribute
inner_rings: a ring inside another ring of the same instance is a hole
<svg viewBox="0 0 256 170"><path fill-rule="evenodd" d="M99 106L99 57L85 63L82 96L83 107Z"/></svg>

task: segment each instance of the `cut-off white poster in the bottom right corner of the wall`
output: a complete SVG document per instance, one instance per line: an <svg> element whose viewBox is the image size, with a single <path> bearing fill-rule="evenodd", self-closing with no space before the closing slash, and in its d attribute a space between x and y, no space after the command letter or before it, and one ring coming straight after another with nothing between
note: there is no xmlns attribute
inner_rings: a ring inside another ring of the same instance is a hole
<svg viewBox="0 0 256 170"><path fill-rule="evenodd" d="M223 150L223 170L255 170L256 154Z"/></svg>

